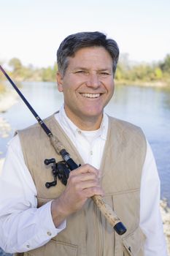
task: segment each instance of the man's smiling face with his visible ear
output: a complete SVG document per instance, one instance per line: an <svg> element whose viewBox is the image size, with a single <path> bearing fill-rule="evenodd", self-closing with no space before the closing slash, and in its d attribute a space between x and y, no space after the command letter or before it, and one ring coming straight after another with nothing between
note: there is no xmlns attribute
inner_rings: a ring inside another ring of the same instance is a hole
<svg viewBox="0 0 170 256"><path fill-rule="evenodd" d="M100 124L104 106L115 88L112 58L107 50L102 47L77 50L69 58L65 75L58 72L57 80L66 115L74 124L78 127L85 122Z"/></svg>

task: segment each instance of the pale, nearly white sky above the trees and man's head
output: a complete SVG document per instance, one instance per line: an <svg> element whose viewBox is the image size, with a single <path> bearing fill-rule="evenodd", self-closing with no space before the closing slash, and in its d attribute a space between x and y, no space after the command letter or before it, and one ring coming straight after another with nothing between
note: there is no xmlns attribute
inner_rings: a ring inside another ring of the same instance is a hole
<svg viewBox="0 0 170 256"><path fill-rule="evenodd" d="M169 13L169 0L0 0L0 62L53 66L61 41L79 31L104 32L131 61L162 61Z"/></svg>

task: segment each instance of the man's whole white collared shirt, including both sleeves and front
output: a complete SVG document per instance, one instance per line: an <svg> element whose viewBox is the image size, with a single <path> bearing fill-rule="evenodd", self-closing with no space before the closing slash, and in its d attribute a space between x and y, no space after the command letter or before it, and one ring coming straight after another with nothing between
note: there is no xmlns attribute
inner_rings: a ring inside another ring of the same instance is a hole
<svg viewBox="0 0 170 256"><path fill-rule="evenodd" d="M69 135L84 162L100 167L107 139L108 117L104 114L101 127L93 132L78 129L61 108L55 118ZM55 228L51 216L51 202L37 208L36 187L26 167L18 135L9 143L7 157L0 178L0 246L6 252L26 252L50 241L66 227L64 221ZM140 227L147 240L144 256L166 256L166 242L159 211L160 180L147 143L142 170Z"/></svg>

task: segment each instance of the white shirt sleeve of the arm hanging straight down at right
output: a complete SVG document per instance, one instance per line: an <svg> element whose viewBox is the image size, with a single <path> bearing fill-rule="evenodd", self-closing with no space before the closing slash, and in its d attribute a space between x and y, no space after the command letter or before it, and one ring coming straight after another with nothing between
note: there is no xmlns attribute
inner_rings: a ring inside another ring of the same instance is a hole
<svg viewBox="0 0 170 256"><path fill-rule="evenodd" d="M140 197L140 227L146 236L144 256L167 256L160 212L160 179L148 142Z"/></svg>

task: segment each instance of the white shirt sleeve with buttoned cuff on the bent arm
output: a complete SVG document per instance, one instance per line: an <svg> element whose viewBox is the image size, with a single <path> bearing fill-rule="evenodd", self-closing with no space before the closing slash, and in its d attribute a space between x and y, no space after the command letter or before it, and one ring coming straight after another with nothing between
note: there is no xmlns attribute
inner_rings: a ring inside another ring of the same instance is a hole
<svg viewBox="0 0 170 256"><path fill-rule="evenodd" d="M64 221L55 228L51 201L37 208L36 194L16 135L9 143L0 176L0 246L5 252L35 249L66 227Z"/></svg>

